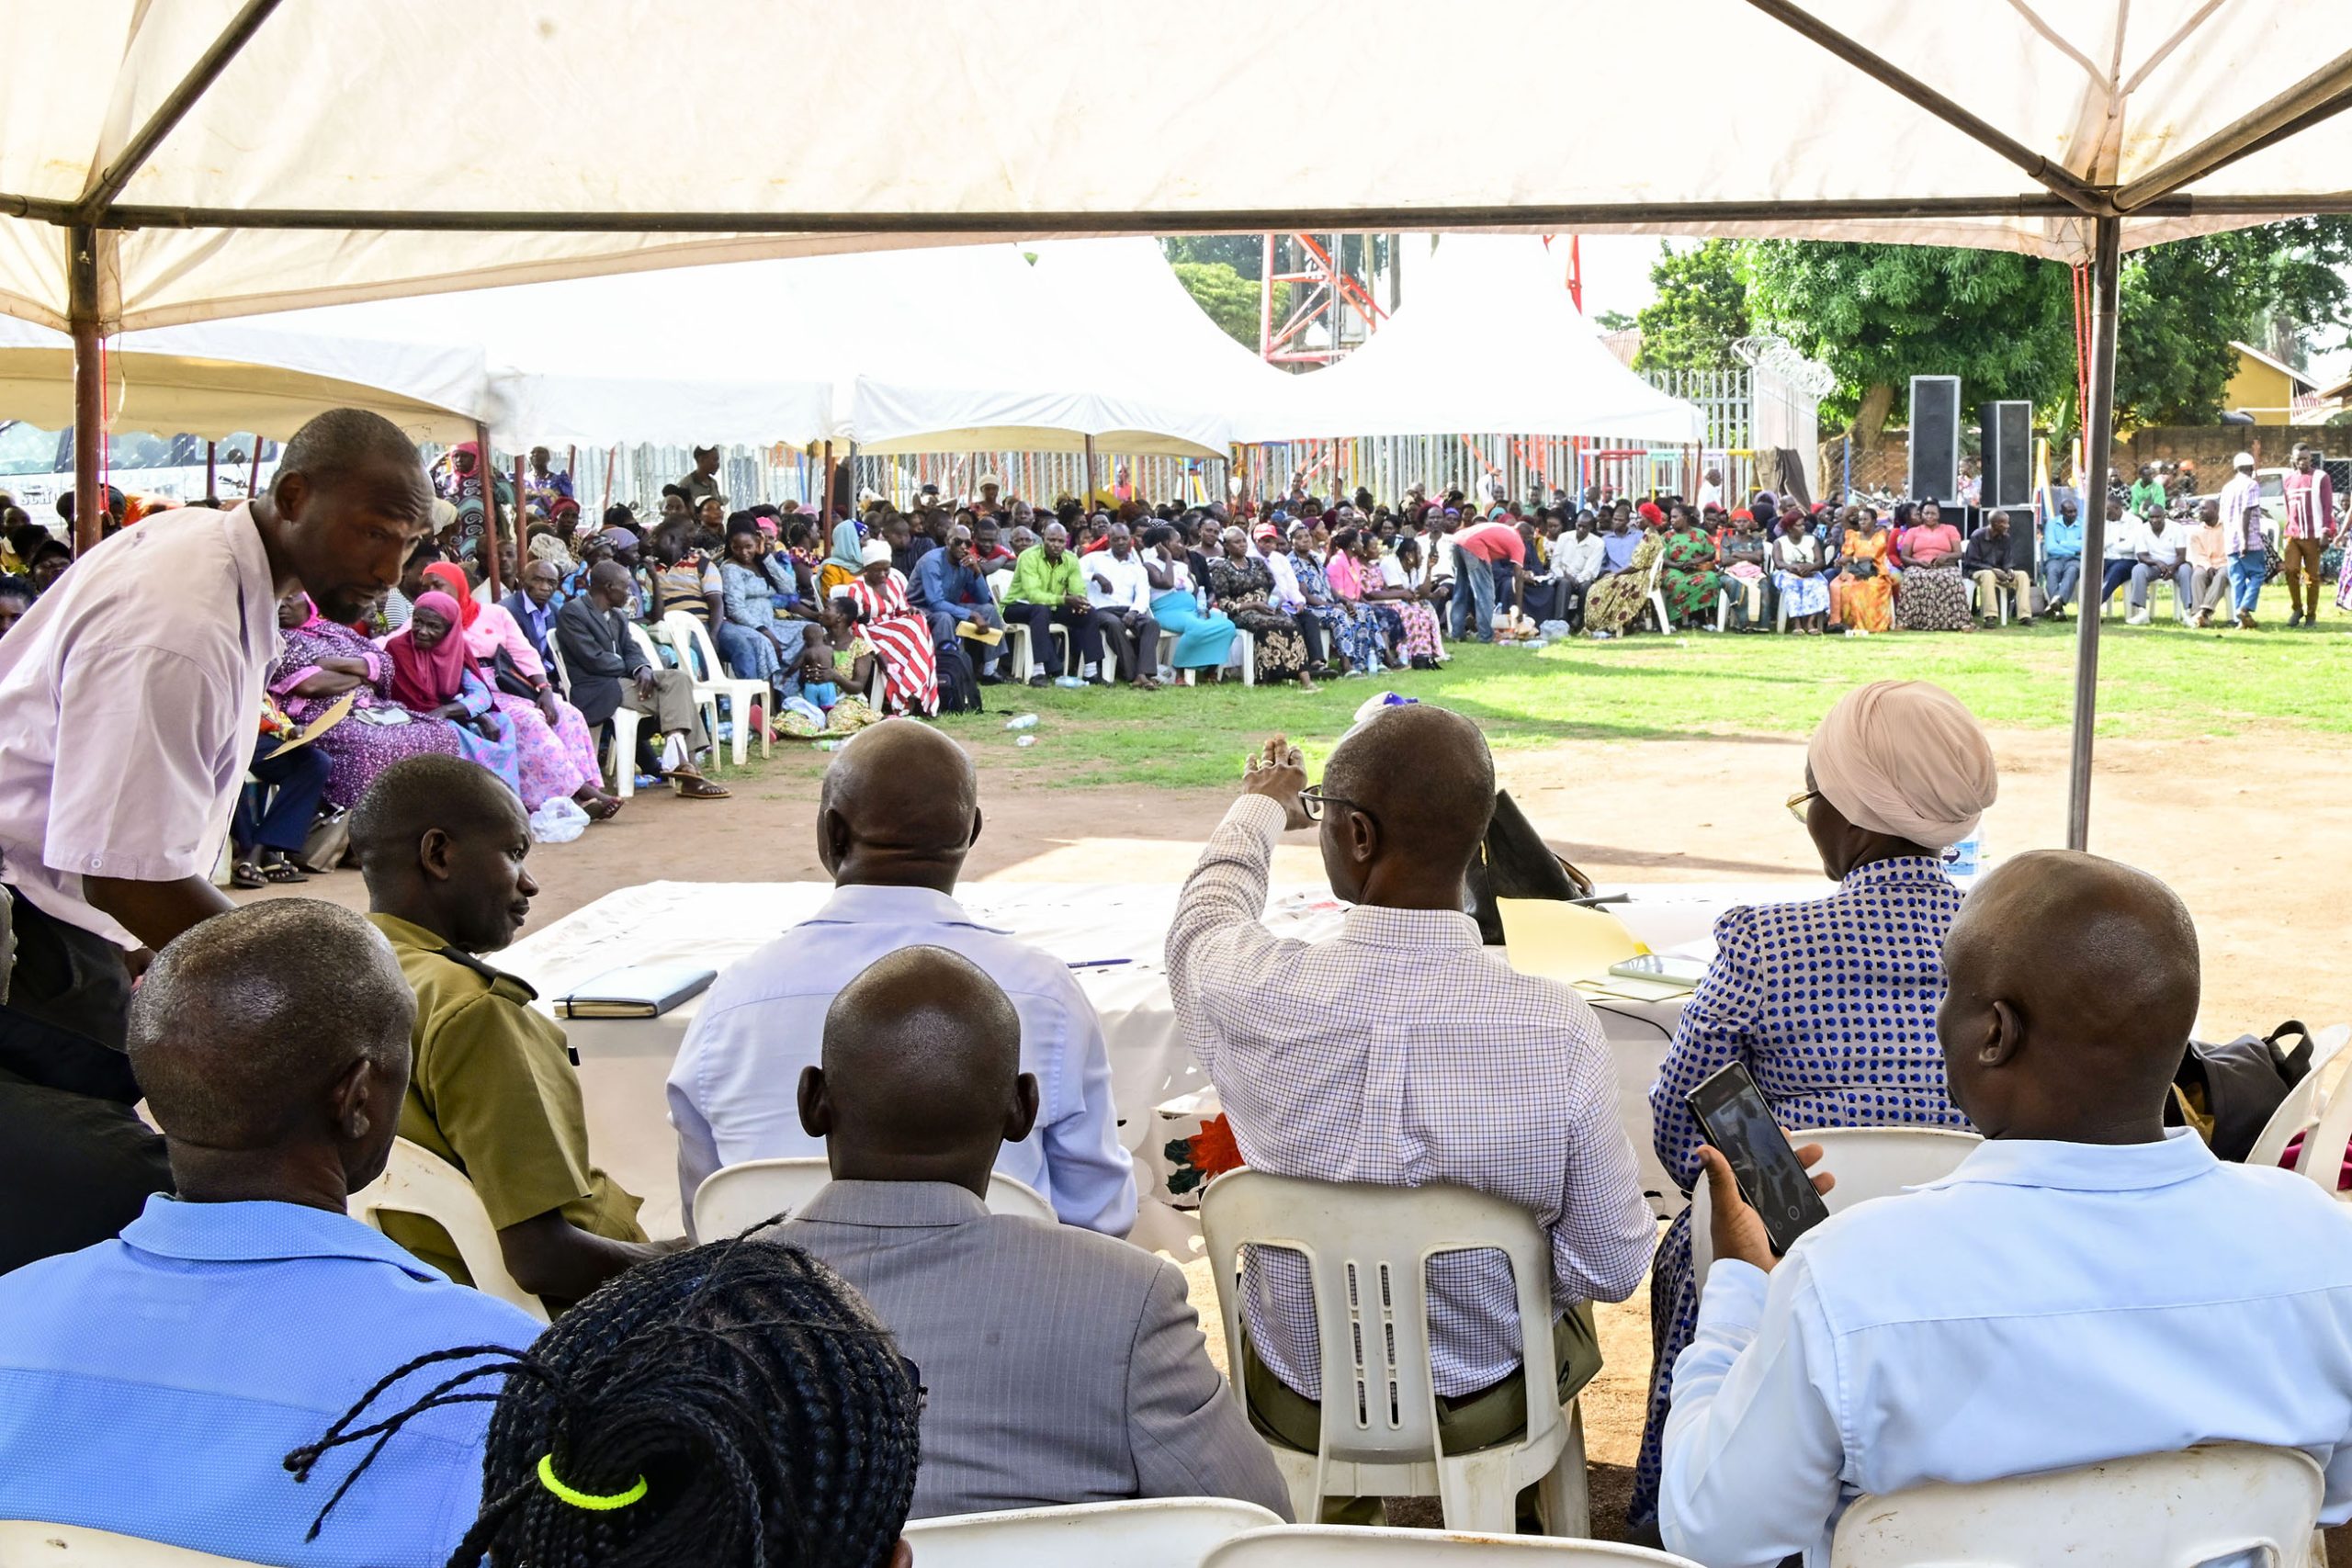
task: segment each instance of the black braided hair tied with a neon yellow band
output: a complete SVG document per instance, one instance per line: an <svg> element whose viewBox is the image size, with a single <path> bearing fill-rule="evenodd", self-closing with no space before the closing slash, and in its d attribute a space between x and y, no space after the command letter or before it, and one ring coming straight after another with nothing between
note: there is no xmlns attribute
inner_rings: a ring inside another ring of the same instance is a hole
<svg viewBox="0 0 2352 1568"><path fill-rule="evenodd" d="M388 1415L374 1401L452 1371ZM503 1378L499 1394L487 1382ZM379 1382L320 1441L308 1479L369 1443L310 1526L421 1410L496 1401L482 1512L449 1568L906 1568L920 1375L833 1269L795 1246L715 1241L642 1262L527 1352L452 1349Z"/></svg>

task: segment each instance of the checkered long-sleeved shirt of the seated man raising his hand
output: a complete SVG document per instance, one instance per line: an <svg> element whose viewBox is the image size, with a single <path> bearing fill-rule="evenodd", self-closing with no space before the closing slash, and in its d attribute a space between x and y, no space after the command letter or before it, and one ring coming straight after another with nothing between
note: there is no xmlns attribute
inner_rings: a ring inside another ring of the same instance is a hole
<svg viewBox="0 0 2352 1568"><path fill-rule="evenodd" d="M1522 976L1446 910L1348 912L1329 943L1263 924L1282 806L1244 795L1176 903L1176 1018L1254 1168L1324 1182L1456 1185L1526 1208L1552 1246L1552 1300L1625 1300L1656 1246L1616 1070L1592 1009ZM1519 1300L1494 1251L1430 1260L1430 1349L1446 1399L1519 1366ZM1319 1399L1305 1262L1251 1258L1249 1342Z"/></svg>

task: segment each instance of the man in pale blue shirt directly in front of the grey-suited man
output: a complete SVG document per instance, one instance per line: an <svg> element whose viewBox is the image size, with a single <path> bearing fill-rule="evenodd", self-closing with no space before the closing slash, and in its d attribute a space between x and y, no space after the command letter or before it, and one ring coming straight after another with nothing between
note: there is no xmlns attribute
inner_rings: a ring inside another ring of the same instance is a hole
<svg viewBox="0 0 2352 1568"><path fill-rule="evenodd" d="M800 1126L800 1074L823 1060L826 1009L884 952L931 945L978 964L1021 1016L1037 1131L1007 1143L995 1168L1042 1192L1065 1225L1112 1237L1134 1227L1134 1161L1120 1147L1110 1053L1087 994L1063 959L978 924L953 898L978 837L971 759L938 731L877 724L833 757L816 823L833 898L717 978L670 1067L689 1218L696 1187L720 1166L826 1152Z"/></svg>

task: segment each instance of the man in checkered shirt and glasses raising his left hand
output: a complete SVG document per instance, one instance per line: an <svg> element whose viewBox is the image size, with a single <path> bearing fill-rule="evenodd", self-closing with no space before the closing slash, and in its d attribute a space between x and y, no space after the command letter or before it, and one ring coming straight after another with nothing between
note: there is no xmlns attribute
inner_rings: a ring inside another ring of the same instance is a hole
<svg viewBox="0 0 2352 1568"><path fill-rule="evenodd" d="M1176 1016L1258 1171L1390 1187L1461 1185L1550 1232L1562 1399L1599 1371L1595 1300L1625 1300L1656 1246L1599 1023L1552 980L1515 973L1463 914L1494 811L1477 726L1385 708L1331 752L1317 790L1279 736L1249 762L1176 905ZM1357 905L1329 943L1265 931L1268 860L1317 825L1331 891ZM1247 1279L1251 1413L1312 1450L1322 1368L1305 1260L1263 1248ZM1449 1450L1526 1420L1519 1314L1501 1253L1430 1262L1430 1345Z"/></svg>

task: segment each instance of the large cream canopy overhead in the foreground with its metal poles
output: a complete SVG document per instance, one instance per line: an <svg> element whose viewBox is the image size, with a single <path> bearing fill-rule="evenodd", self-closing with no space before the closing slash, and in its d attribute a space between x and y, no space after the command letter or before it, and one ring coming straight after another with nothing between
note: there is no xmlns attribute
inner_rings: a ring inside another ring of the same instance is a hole
<svg viewBox="0 0 2352 1568"><path fill-rule="evenodd" d="M1289 33L1348 38L1348 71L1235 45L1265 26L1249 0L16 0L0 313L75 336L87 494L96 341L122 327L990 233L1983 244L2093 268L2096 494L2124 247L2352 212L2343 0L1282 9ZM1465 115L1362 115L1352 96L1484 82L1498 49L1635 68L1691 40L1769 82L1769 113L1578 118L1505 92ZM1152 92L1108 87L1138 68ZM623 89L661 110L619 113ZM1235 113L1261 103L1345 127L1343 146L1268 139ZM80 517L94 529L99 508ZM2096 550L2098 508L2089 529ZM2077 846L2096 616L2079 639Z"/></svg>

